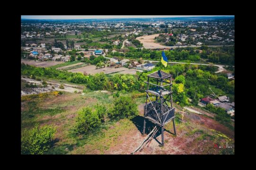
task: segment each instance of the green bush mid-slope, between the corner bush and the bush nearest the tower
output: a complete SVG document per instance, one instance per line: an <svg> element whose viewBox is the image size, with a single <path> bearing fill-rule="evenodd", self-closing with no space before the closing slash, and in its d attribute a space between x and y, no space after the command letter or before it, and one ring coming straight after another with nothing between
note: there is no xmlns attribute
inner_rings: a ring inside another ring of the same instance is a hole
<svg viewBox="0 0 256 170"><path fill-rule="evenodd" d="M92 111L90 107L84 107L79 110L78 117L76 119L76 133L86 133L88 130L92 130L94 127L98 127L99 125L100 118L96 111Z"/></svg>

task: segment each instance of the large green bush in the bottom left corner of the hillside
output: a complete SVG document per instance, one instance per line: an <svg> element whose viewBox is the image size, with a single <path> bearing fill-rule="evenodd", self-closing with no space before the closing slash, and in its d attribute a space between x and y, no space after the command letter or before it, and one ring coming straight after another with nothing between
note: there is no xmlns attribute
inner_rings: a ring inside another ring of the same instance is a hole
<svg viewBox="0 0 256 170"><path fill-rule="evenodd" d="M44 154L51 147L55 132L52 125L41 128L35 125L32 130L25 130L21 138L21 154Z"/></svg>

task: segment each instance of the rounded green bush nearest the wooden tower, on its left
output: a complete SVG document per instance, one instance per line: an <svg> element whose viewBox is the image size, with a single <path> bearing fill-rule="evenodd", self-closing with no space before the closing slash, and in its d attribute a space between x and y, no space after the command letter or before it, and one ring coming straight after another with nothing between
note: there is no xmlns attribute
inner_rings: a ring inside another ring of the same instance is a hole
<svg viewBox="0 0 256 170"><path fill-rule="evenodd" d="M139 114L137 107L132 97L118 97L114 100L114 106L109 116L111 118L132 118Z"/></svg>

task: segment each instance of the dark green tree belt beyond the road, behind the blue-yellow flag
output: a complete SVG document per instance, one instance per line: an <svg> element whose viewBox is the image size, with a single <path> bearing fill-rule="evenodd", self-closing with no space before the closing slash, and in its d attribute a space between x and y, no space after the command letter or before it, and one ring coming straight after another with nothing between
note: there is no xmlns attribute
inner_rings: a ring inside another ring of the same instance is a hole
<svg viewBox="0 0 256 170"><path fill-rule="evenodd" d="M162 51L153 51L150 49L135 49L132 47L128 48L129 51L126 53L110 52L108 55L116 57L128 57L128 58L144 58L151 60L160 60ZM200 51L202 50L202 51ZM209 62L234 65L234 46L231 47L214 47L209 48L202 46L198 49L186 47L176 48L171 50L165 50L165 55L168 61L200 61L201 58L206 58Z"/></svg>

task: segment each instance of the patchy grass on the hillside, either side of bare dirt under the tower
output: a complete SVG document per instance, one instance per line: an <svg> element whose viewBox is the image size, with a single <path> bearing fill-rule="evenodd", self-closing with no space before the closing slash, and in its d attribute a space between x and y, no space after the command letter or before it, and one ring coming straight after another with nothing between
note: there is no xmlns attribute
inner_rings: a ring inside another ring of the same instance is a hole
<svg viewBox="0 0 256 170"><path fill-rule="evenodd" d="M76 135L74 133L75 119L80 108L97 103L107 104L113 100L112 94L103 92L88 91L85 95L65 92L57 96L52 93L48 95L44 93L22 97L22 131L31 129L35 123L38 123L39 126L53 124L57 128L56 142L45 154L113 154L115 148L122 148L128 137L127 133L131 134L137 128L131 120L122 119L107 121L84 135ZM127 92L121 95L131 95L131 93ZM137 104L144 103L145 97L136 97L135 101ZM178 108L177 105L176 107ZM234 143L222 133L195 124L186 117L184 121L180 121L178 118L181 118L181 115L178 112L176 116L177 134L182 134L183 131L187 132L182 138L193 138L191 144L193 148L206 140L206 144L202 144L202 147L205 147L203 149L205 154L216 154L216 150L212 146L214 142L221 145L225 144L226 141L229 142L229 145ZM168 123L166 129L173 132L173 123ZM172 138L176 138L176 136L172 135ZM169 142L171 141L166 141L166 143ZM219 154L232 154L233 150L222 149L218 152ZM127 150L122 150L120 153L127 154Z"/></svg>

